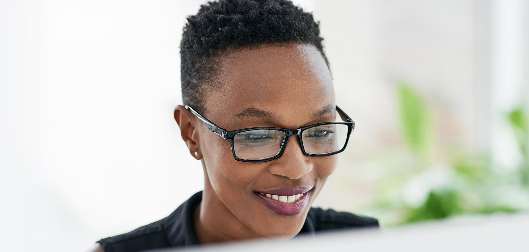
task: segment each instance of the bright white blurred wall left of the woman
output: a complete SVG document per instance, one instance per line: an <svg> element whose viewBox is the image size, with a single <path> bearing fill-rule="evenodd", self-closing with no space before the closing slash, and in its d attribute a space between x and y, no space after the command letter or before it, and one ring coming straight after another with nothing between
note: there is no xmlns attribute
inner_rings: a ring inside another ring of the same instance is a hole
<svg viewBox="0 0 529 252"><path fill-rule="evenodd" d="M2 3L3 192L16 194L24 251L83 250L203 187L172 118L181 29L199 3Z"/></svg>

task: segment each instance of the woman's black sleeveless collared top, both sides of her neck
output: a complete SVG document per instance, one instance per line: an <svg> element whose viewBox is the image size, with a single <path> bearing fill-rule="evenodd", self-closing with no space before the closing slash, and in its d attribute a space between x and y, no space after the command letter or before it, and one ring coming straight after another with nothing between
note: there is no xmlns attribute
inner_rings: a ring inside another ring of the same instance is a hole
<svg viewBox="0 0 529 252"><path fill-rule="evenodd" d="M200 201L202 191L195 193L166 218L97 242L103 246L105 252L136 252L198 245L193 226L193 212ZM378 220L332 209L311 208L303 228L296 236L314 235L316 231L321 230L360 227L378 227Z"/></svg>

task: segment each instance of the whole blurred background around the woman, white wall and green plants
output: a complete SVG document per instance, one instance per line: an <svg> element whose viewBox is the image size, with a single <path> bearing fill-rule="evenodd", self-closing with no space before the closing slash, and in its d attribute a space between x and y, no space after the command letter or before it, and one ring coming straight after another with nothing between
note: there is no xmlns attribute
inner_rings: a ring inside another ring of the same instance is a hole
<svg viewBox="0 0 529 252"><path fill-rule="evenodd" d="M0 2L11 250L83 251L202 190L172 111L185 17L204 3ZM314 206L390 228L529 209L529 2L294 3L321 21L357 124Z"/></svg>

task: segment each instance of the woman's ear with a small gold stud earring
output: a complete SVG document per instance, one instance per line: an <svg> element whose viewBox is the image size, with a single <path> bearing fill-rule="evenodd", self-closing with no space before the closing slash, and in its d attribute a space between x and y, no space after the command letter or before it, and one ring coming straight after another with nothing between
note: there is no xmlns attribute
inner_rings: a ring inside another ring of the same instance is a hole
<svg viewBox="0 0 529 252"><path fill-rule="evenodd" d="M201 159L202 151L200 151L198 146L198 127L195 127L195 115L186 110L184 106L178 105L175 107L174 116L178 127L180 127L180 135L186 142L189 153L194 158ZM195 155L195 151L198 155Z"/></svg>

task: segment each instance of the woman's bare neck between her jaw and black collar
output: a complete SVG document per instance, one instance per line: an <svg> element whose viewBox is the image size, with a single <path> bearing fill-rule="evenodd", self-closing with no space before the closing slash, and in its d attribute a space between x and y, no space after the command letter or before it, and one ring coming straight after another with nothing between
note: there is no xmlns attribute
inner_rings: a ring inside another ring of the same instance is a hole
<svg viewBox="0 0 529 252"><path fill-rule="evenodd" d="M194 212L195 232L200 244L261 237L249 229L224 205L205 173L202 201Z"/></svg>

